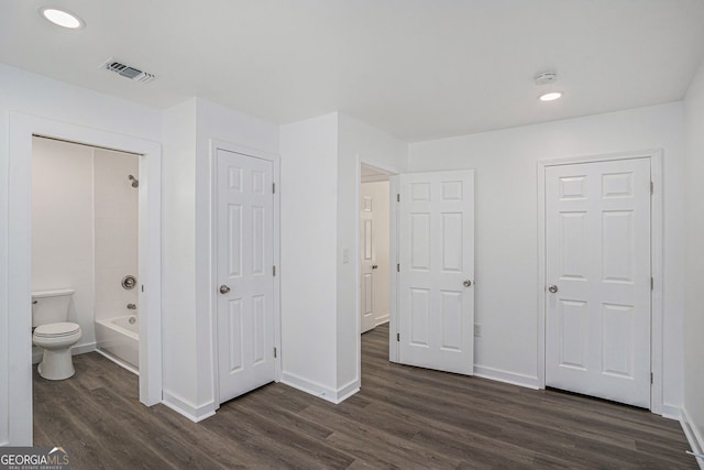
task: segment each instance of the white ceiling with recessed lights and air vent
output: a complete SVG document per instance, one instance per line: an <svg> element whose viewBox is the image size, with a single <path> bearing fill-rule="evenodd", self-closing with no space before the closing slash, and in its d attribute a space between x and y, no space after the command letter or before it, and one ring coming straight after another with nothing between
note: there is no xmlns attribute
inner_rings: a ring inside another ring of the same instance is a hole
<svg viewBox="0 0 704 470"><path fill-rule="evenodd" d="M48 24L44 4L87 28ZM408 141L679 100L703 56L703 0L0 0L8 65L160 108L339 110ZM562 100L536 99L544 69Z"/></svg>

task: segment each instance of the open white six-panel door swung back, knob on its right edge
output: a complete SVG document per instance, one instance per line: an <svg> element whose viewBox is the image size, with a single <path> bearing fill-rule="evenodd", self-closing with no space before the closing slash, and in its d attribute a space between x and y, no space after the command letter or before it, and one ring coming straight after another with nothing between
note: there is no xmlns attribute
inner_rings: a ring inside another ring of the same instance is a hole
<svg viewBox="0 0 704 470"><path fill-rule="evenodd" d="M474 172L400 175L399 188L399 362L472 374Z"/></svg>

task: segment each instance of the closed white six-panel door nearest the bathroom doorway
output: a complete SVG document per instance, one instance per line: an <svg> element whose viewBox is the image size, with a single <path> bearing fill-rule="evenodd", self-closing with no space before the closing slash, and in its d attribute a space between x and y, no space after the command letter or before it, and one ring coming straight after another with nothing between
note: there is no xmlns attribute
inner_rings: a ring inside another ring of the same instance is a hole
<svg viewBox="0 0 704 470"><path fill-rule="evenodd" d="M220 403L275 379L273 163L217 150Z"/></svg>

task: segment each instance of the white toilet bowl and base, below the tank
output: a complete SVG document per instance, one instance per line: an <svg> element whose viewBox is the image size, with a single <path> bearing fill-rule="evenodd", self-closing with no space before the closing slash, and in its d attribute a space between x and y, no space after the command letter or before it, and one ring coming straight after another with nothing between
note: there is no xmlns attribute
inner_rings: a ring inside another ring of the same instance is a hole
<svg viewBox="0 0 704 470"><path fill-rule="evenodd" d="M37 367L47 380L64 380L74 375L70 348L81 337L80 327L72 323L41 325L34 329L32 342L42 348L42 362Z"/></svg>

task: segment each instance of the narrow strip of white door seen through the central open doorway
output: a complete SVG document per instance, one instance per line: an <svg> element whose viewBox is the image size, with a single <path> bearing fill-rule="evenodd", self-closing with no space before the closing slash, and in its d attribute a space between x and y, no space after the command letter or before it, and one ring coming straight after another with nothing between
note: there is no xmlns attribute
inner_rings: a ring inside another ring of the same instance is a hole
<svg viewBox="0 0 704 470"><path fill-rule="evenodd" d="M361 330L369 331L376 326L376 313L374 311L374 198L364 193L362 185L362 200L360 210L360 272L362 298L360 302Z"/></svg>

